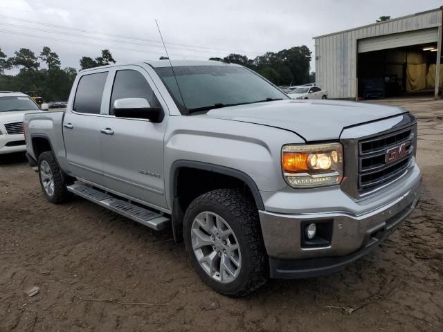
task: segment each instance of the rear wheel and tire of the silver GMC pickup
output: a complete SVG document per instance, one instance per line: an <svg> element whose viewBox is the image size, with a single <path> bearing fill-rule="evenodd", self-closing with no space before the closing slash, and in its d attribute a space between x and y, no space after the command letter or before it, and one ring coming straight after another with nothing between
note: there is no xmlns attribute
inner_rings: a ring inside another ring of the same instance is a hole
<svg viewBox="0 0 443 332"><path fill-rule="evenodd" d="M40 154L37 166L40 185L48 201L57 204L71 198L71 193L68 192L66 186L72 184L73 181L62 173L52 151Z"/></svg>

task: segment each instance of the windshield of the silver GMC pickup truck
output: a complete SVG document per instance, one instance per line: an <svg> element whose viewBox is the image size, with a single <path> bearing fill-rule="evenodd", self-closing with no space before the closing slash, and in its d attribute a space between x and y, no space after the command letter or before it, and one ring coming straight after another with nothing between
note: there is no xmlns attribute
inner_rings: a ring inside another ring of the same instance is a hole
<svg viewBox="0 0 443 332"><path fill-rule="evenodd" d="M275 86L243 67L174 67L180 89L177 88L171 67L155 68L155 71L165 83L182 113L289 99Z"/></svg>

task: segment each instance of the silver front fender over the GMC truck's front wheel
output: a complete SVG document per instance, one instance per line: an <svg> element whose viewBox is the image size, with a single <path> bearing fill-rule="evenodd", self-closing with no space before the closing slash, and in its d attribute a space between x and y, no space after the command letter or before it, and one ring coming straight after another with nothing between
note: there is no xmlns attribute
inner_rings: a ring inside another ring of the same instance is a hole
<svg viewBox="0 0 443 332"><path fill-rule="evenodd" d="M170 174L165 178L168 206L172 206L174 173L178 168L174 163L179 160L205 164L213 170L230 169L231 175L245 174L249 184L245 176L241 179L251 191L277 191L287 186L281 171L282 145L302 142L291 131L261 124L204 115L173 116L165 133L165 174Z"/></svg>

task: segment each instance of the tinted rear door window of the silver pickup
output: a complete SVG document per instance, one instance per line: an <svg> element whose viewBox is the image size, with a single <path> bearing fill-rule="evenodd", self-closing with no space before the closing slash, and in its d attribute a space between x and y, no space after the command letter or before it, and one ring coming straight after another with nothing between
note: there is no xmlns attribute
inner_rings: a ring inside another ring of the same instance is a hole
<svg viewBox="0 0 443 332"><path fill-rule="evenodd" d="M100 114L102 95L108 73L89 74L80 77L75 92L73 110L78 113Z"/></svg>

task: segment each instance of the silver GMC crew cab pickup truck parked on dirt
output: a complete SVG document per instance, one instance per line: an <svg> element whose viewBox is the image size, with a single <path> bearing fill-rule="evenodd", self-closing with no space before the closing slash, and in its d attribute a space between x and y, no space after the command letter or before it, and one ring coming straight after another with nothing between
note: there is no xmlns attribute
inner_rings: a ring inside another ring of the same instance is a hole
<svg viewBox="0 0 443 332"><path fill-rule="evenodd" d="M199 277L230 296L343 269L420 197L410 113L291 100L235 64L87 69L65 112L26 114L24 128L48 201L76 194L172 228Z"/></svg>

